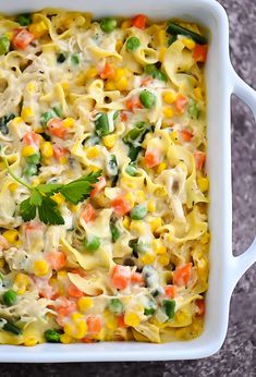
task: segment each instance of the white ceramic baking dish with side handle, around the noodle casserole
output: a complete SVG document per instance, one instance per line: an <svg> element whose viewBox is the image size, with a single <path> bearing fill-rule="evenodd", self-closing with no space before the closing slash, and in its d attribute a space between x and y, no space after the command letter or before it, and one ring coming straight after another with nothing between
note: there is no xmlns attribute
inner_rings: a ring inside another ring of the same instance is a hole
<svg viewBox="0 0 256 377"><path fill-rule="evenodd" d="M210 177L209 223L211 230L210 276L205 329L194 340L164 344L103 342L95 344L40 344L35 348L0 345L1 362L154 361L206 357L217 352L225 338L232 291L256 260L256 241L241 256L232 255L231 127L230 97L237 95L254 111L256 93L233 71L229 58L229 25L223 8L214 0L8 0L0 11L23 13L46 7L66 8L106 15L145 13L154 20L181 17L208 29L206 68L208 97L208 158Z"/></svg>

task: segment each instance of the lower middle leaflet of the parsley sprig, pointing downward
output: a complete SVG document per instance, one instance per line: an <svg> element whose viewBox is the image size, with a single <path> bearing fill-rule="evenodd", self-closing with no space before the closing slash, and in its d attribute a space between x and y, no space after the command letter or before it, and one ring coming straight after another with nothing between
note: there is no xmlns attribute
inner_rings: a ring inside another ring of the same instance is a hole
<svg viewBox="0 0 256 377"><path fill-rule="evenodd" d="M50 226L62 226L64 224L64 219L61 216L57 203L50 197L41 197L41 206L38 207L39 219L46 224Z"/></svg>

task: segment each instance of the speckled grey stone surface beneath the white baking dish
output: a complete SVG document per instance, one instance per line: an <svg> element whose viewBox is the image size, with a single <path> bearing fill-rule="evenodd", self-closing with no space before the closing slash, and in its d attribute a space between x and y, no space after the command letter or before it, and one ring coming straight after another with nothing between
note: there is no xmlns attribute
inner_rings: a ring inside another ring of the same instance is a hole
<svg viewBox="0 0 256 377"><path fill-rule="evenodd" d="M192 0L193 1L193 0ZM256 0L220 0L230 20L232 63L256 89ZM256 231L256 124L248 108L232 99L233 250L242 253ZM10 376L256 376L256 265L236 285L229 331L222 349L199 361L151 363L77 363L0 366Z"/></svg>

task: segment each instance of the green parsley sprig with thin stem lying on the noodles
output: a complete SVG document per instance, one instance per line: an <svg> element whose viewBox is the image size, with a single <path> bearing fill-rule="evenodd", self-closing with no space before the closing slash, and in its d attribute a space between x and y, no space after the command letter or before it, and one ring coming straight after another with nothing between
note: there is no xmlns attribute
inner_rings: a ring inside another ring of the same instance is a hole
<svg viewBox="0 0 256 377"><path fill-rule="evenodd" d="M61 193L66 202L76 205L89 197L90 191L94 188L93 184L97 183L101 175L101 171L97 171L88 175L82 175L68 184L46 183L33 187L16 177L10 169L7 158L2 158L9 174L31 193L31 196L20 205L21 216L24 221L33 220L38 211L39 219L46 224L63 224L64 219L51 196L54 193Z"/></svg>

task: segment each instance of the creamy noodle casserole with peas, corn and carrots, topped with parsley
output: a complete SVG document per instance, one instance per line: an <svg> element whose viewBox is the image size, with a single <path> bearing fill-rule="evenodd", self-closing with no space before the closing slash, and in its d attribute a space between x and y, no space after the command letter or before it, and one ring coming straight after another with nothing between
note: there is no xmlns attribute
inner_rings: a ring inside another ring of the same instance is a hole
<svg viewBox="0 0 256 377"><path fill-rule="evenodd" d="M0 343L202 332L206 59L180 20L0 17Z"/></svg>

